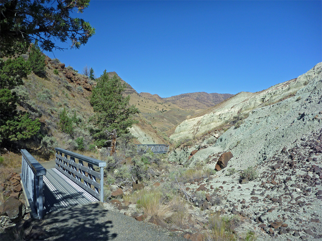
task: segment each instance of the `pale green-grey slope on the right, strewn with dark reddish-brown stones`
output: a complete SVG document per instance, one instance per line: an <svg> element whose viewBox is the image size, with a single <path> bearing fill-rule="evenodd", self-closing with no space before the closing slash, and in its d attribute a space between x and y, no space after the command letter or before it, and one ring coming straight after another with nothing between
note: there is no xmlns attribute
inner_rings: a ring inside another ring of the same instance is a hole
<svg viewBox="0 0 322 241"><path fill-rule="evenodd" d="M294 96L277 102L295 91ZM272 237L319 240L322 238L322 63L297 79L259 93L237 94L245 97L245 101L233 104L234 96L214 109L222 110L224 118L224 113L231 114L223 111L225 105L230 104L232 112L237 107L242 112L260 103L256 95L273 104L249 111L239 125L216 132L217 139L210 131L197 139L195 145L175 149L169 161L190 167L204 163L217 170L213 179L186 186L209 194L216 190L224 201L214 209L244 220L236 227L237 232L255 230L258 240ZM214 121L220 120L215 113L218 112L206 115L213 115ZM241 179L245 172L250 175Z"/></svg>

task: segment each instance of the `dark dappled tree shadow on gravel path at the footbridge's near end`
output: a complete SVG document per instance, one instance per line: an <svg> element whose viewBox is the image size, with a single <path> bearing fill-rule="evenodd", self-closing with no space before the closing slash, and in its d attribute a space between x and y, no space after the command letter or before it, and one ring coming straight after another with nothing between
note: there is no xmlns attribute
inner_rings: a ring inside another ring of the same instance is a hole
<svg viewBox="0 0 322 241"><path fill-rule="evenodd" d="M112 221L101 203L72 206L61 211L50 212L43 219L46 240L113 240Z"/></svg>

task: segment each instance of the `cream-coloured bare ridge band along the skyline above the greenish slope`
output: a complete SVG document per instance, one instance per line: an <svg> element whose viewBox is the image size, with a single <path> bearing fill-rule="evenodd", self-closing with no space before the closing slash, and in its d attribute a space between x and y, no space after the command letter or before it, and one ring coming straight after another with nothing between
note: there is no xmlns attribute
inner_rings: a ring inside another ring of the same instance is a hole
<svg viewBox="0 0 322 241"><path fill-rule="evenodd" d="M302 89L308 84L309 79L318 75L319 68L320 64L298 78L274 85L260 92L241 92L236 94L222 103L217 104L208 112L204 113L204 115L182 122L170 138L177 140L180 138L201 136L224 123L232 121L238 116L240 117L239 119L243 119L252 110L270 106L283 99L292 97L299 89ZM242 116L243 114L244 117Z"/></svg>

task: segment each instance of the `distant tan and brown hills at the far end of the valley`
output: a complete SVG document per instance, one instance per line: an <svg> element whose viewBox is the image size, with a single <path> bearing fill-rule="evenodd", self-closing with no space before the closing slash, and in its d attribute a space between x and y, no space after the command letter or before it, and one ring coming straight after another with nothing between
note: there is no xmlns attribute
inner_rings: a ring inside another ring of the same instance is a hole
<svg viewBox="0 0 322 241"><path fill-rule="evenodd" d="M110 77L114 75L117 73L109 72ZM131 85L122 79L121 81L126 85L125 94L131 96L130 104L136 105L140 111L136 116L139 123L131 128L131 133L142 144L169 143L168 137L182 121L232 96L232 94L197 92L161 98L157 94L138 94Z"/></svg>

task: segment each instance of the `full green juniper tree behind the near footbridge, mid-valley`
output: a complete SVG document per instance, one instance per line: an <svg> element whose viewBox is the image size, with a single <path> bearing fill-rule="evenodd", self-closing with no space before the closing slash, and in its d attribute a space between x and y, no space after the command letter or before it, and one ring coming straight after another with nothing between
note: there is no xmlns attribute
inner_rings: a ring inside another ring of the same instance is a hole
<svg viewBox="0 0 322 241"><path fill-rule="evenodd" d="M108 132L116 129L118 136L126 134L129 132L128 128L136 122L133 115L139 111L134 105L129 105L129 95L122 95L124 89L125 84L121 84L120 78L117 75L110 78L105 70L92 90L90 104L95 114L90 118L90 122L94 124L91 132L98 146L108 144Z"/></svg>

